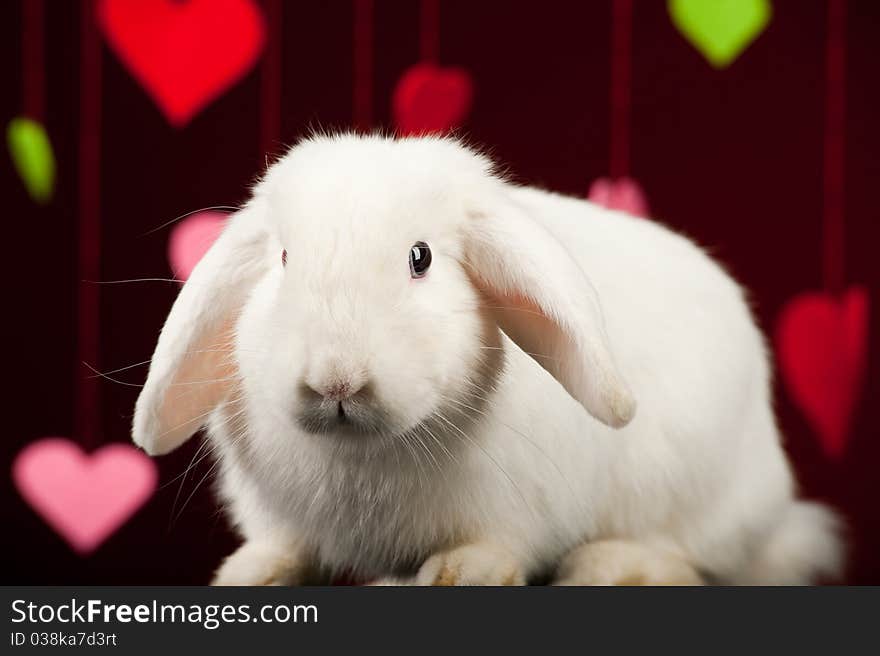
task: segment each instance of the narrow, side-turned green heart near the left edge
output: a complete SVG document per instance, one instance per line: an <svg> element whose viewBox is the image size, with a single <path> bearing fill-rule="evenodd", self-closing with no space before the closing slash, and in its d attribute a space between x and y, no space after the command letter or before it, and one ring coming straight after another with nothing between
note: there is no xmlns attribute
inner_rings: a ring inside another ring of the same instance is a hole
<svg viewBox="0 0 880 656"><path fill-rule="evenodd" d="M29 118L14 118L6 128L6 142L31 198L48 203L55 188L55 156L46 129Z"/></svg>

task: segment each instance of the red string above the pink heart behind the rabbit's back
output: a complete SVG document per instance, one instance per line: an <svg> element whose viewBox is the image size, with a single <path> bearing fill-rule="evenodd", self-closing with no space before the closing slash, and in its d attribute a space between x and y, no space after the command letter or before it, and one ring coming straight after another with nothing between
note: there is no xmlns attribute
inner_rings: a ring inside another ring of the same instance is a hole
<svg viewBox="0 0 880 656"><path fill-rule="evenodd" d="M611 146L609 174L629 175L632 0L611 3Z"/></svg>

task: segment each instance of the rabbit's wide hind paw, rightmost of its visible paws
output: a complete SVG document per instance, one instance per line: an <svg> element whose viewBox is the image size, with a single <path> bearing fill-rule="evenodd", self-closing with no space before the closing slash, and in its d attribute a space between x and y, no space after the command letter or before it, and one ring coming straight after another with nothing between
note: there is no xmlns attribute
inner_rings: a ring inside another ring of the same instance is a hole
<svg viewBox="0 0 880 656"><path fill-rule="evenodd" d="M600 540L569 553L554 585L702 585L683 558L639 542Z"/></svg>

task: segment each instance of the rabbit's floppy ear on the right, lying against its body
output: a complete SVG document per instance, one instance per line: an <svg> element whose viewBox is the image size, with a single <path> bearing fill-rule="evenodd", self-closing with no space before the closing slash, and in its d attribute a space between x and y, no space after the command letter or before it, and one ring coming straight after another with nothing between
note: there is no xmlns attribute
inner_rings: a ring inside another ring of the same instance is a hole
<svg viewBox="0 0 880 656"><path fill-rule="evenodd" d="M629 423L635 400L611 354L595 289L563 245L498 193L472 212L465 266L499 327L596 419Z"/></svg>

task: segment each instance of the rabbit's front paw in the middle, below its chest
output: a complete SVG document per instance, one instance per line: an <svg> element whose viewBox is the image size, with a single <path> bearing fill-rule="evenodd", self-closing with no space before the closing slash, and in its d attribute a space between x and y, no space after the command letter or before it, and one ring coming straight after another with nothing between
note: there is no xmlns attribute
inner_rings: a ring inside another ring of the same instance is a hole
<svg viewBox="0 0 880 656"><path fill-rule="evenodd" d="M494 544L469 544L431 556L416 575L417 585L525 585L517 559Z"/></svg>

